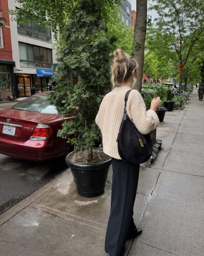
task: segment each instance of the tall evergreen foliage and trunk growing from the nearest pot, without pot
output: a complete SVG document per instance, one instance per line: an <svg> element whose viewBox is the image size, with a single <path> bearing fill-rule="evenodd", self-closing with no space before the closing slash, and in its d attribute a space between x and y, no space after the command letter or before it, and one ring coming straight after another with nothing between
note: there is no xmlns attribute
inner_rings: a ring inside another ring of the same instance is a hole
<svg viewBox="0 0 204 256"><path fill-rule="evenodd" d="M107 32L105 0L78 0L61 35L55 91L49 94L60 113L75 116L64 122L58 136L75 150L85 149L87 162L100 137L95 124L100 96L111 90L111 44L116 39Z"/></svg>

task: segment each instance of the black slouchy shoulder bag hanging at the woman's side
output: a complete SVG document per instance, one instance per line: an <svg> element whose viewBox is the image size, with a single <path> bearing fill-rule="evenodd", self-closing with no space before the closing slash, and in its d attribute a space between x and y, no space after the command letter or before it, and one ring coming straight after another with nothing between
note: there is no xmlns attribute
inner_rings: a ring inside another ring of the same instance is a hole
<svg viewBox="0 0 204 256"><path fill-rule="evenodd" d="M152 155L153 145L149 134L141 134L126 113L126 104L131 90L126 92L125 106L118 132L118 153L125 162L140 164Z"/></svg>

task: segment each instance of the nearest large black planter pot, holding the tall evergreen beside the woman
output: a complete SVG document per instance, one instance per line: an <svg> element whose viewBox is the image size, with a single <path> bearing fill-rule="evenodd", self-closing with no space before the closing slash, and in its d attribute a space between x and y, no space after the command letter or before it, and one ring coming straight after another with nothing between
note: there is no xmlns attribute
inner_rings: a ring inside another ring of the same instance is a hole
<svg viewBox="0 0 204 256"><path fill-rule="evenodd" d="M75 187L79 195L83 197L97 197L104 193L106 179L111 165L111 158L103 163L85 165L71 162L69 153L65 161L70 167Z"/></svg>

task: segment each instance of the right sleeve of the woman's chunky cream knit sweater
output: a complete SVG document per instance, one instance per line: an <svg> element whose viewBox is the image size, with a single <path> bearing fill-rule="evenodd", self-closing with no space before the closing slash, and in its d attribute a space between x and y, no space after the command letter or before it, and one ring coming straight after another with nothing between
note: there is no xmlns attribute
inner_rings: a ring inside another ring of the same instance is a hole
<svg viewBox="0 0 204 256"><path fill-rule="evenodd" d="M129 94L127 114L142 134L148 134L159 125L157 114L151 109L146 111L144 100L137 90L132 90Z"/></svg>

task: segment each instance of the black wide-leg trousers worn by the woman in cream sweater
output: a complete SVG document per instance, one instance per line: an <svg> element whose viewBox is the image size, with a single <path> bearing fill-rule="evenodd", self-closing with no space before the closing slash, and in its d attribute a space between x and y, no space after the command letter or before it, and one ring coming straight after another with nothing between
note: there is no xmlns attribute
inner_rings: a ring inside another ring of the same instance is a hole
<svg viewBox="0 0 204 256"><path fill-rule="evenodd" d="M112 158L111 213L106 231L105 250L110 256L123 256L125 243L137 230L133 207L140 165Z"/></svg>

